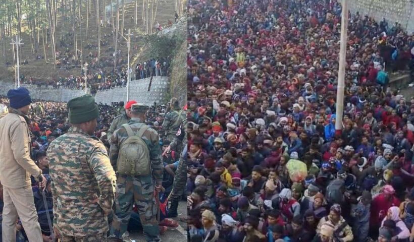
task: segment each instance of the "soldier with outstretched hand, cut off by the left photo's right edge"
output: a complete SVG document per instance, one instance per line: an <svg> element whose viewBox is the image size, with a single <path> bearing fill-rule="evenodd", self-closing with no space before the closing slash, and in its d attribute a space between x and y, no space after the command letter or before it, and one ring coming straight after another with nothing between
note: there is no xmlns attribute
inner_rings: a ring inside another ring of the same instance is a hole
<svg viewBox="0 0 414 242"><path fill-rule="evenodd" d="M174 176L173 189L169 197L171 207L168 210L168 217L170 218L177 217L178 202L187 185L187 118L181 123L175 139L171 142L165 153L171 149L176 149L179 145L183 146L184 149L180 155L177 171Z"/></svg>

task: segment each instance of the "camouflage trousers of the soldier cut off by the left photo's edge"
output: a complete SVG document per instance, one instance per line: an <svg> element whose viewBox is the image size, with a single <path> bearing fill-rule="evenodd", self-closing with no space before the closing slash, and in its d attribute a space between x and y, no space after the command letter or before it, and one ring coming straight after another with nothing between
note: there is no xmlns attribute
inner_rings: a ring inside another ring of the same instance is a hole
<svg viewBox="0 0 414 242"><path fill-rule="evenodd" d="M187 146L184 146L183 151L178 161L177 171L175 172L173 181L173 190L171 191L170 201L179 201L183 195L187 185Z"/></svg>

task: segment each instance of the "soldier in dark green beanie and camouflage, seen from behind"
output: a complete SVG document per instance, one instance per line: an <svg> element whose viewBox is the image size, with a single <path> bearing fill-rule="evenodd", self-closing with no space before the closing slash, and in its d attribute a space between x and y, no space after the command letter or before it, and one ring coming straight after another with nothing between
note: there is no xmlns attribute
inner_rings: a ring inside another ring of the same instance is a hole
<svg viewBox="0 0 414 242"><path fill-rule="evenodd" d="M54 231L62 242L107 241L116 176L103 143L93 137L99 116L90 95L70 100L68 133L51 142Z"/></svg>

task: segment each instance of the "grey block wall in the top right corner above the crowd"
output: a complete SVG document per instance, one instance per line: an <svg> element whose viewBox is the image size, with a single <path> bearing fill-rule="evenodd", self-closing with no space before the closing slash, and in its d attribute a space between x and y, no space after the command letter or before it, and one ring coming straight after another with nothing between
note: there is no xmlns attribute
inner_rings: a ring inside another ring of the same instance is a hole
<svg viewBox="0 0 414 242"><path fill-rule="evenodd" d="M414 32L414 1L412 0L349 0L351 13L368 15L378 22L383 18L391 28L395 22L401 24L408 33Z"/></svg>

